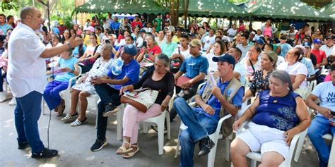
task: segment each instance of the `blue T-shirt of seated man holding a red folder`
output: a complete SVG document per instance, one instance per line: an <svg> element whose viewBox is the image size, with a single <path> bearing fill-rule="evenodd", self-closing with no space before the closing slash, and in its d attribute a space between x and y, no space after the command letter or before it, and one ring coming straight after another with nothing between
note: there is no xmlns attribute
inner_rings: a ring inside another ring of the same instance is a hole
<svg viewBox="0 0 335 167"><path fill-rule="evenodd" d="M180 71L182 71L182 73L185 73L185 76L187 78L194 78L199 75L199 73L207 74L208 66L209 63L206 57L190 56L189 58L186 58L186 60L182 63Z"/></svg>

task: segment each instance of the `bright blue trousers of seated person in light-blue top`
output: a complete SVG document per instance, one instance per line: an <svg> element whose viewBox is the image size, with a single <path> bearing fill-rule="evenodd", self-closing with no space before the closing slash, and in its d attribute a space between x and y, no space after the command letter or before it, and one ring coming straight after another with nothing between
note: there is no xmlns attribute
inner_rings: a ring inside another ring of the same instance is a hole
<svg viewBox="0 0 335 167"><path fill-rule="evenodd" d="M47 102L47 106L49 107L50 111L56 109L59 104L61 104L61 96L59 92L62 90L67 89L69 82L60 82L54 80L47 84L45 87L45 92L43 93L43 97L45 98L45 102Z"/></svg>

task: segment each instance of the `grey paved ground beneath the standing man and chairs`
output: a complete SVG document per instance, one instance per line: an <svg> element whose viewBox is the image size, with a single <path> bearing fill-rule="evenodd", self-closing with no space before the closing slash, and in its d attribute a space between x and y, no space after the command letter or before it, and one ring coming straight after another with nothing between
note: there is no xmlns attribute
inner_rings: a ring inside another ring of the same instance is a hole
<svg viewBox="0 0 335 167"><path fill-rule="evenodd" d="M175 146L177 143L180 119L171 124L171 140L165 138L165 153L158 155L157 134L150 130L148 134L139 132L139 151L131 159L123 159L115 154L122 144L116 140L116 116L110 117L107 126L107 147L97 152L90 151L95 141L95 113L88 113L88 121L79 127L71 127L69 123L61 122L55 113L51 113L49 128L49 147L59 150L59 156L52 159L32 159L30 149L18 150L16 142L16 129L13 120L14 106L8 106L8 101L0 103L0 166L179 166L179 159L175 159ZM47 147L47 125L49 113L41 116L39 120L40 136ZM224 161L223 140L218 143L215 166L230 166ZM196 150L197 152L197 150ZM196 166L206 166L207 157L194 158ZM318 166L315 151L309 149L302 151L295 167Z"/></svg>

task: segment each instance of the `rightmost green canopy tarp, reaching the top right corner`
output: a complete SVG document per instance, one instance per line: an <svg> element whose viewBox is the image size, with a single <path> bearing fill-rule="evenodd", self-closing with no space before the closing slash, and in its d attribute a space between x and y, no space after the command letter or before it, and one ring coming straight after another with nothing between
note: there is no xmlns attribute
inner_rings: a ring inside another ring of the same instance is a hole
<svg viewBox="0 0 335 167"><path fill-rule="evenodd" d="M254 0L246 4L252 18L274 18L290 20L324 20L333 18L317 11L299 0Z"/></svg>

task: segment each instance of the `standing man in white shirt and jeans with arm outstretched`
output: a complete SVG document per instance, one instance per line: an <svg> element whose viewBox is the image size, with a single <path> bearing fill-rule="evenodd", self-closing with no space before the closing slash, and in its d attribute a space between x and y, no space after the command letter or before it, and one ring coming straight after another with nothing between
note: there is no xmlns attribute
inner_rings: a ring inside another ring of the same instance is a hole
<svg viewBox="0 0 335 167"><path fill-rule="evenodd" d="M16 98L15 125L18 132L18 149L30 145L32 158L51 158L58 151L47 149L40 140L37 121L41 115L42 93L45 89L45 58L57 56L77 47L83 39L71 37L69 44L46 48L35 34L40 29L41 12L34 7L20 11L22 23L11 33L8 46L8 82Z"/></svg>

